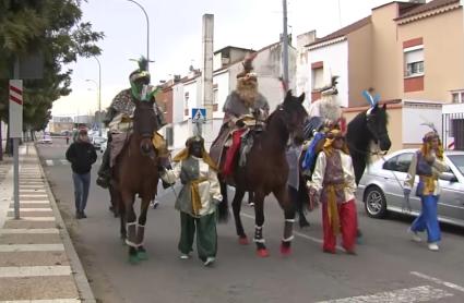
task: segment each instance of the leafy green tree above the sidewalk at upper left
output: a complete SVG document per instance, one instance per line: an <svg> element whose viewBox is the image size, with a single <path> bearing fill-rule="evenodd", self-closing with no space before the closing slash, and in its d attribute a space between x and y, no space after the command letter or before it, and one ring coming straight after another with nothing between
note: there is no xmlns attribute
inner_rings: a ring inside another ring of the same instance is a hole
<svg viewBox="0 0 464 303"><path fill-rule="evenodd" d="M72 70L66 64L100 53L96 43L104 34L81 22L81 0L0 0L1 120L8 122L8 78L16 56L37 50L44 56L44 78L25 81L23 95L25 131L39 131L50 119L51 104L71 93ZM0 145L0 160L1 156Z"/></svg>

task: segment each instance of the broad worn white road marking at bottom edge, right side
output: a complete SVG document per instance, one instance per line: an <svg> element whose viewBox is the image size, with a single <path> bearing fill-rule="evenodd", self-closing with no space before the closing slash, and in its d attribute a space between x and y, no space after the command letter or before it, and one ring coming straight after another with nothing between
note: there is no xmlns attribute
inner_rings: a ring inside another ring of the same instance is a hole
<svg viewBox="0 0 464 303"><path fill-rule="evenodd" d="M379 292L368 295L350 296L337 300L320 301L318 303L409 303L426 302L447 296L453 296L444 290L430 286L421 286L408 289L398 289L393 291Z"/></svg>

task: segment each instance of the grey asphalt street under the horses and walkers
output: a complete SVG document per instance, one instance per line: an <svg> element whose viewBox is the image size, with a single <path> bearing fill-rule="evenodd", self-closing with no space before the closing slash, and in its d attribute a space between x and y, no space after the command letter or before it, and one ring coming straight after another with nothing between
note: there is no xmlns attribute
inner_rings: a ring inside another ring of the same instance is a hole
<svg viewBox="0 0 464 303"><path fill-rule="evenodd" d="M119 219L108 210L107 191L96 186L100 155L92 170L87 219L74 219L71 167L64 138L37 145L61 215L95 296L102 302L463 302L464 230L442 225L440 252L409 240L413 218L391 215L376 220L358 204L364 243L357 255L321 250L320 209L308 215L311 227L295 227L293 255L282 257L284 215L274 197L265 204L264 237L271 256L239 245L233 219L218 225L217 262L205 268L193 253L179 259L179 214L170 189L159 190L159 206L148 210L145 247L148 260L128 263L119 239ZM179 187L176 187L179 191ZM229 196L231 199L231 196ZM242 220L251 240L253 209L243 202ZM424 239L425 237L423 237Z"/></svg>

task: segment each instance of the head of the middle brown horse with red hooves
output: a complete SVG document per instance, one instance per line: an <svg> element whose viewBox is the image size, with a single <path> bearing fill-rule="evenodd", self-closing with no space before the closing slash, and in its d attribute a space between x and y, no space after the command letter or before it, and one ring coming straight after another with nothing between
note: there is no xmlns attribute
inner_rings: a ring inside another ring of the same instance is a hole
<svg viewBox="0 0 464 303"><path fill-rule="evenodd" d="M308 118L302 102L305 101L305 93L299 97L292 95L292 90L287 92L284 102L279 106L279 110L285 112L284 123L294 140L304 137L304 125Z"/></svg>

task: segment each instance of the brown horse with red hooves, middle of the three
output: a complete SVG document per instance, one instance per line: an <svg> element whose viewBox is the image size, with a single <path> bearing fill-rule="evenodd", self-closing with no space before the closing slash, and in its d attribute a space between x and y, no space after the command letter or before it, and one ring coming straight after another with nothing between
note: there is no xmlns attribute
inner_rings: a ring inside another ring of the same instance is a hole
<svg viewBox="0 0 464 303"><path fill-rule="evenodd" d="M292 92L287 93L284 102L267 118L265 130L254 137L253 146L247 155L247 163L245 167L237 167L233 174L231 183L236 187L233 210L239 243L248 243L240 219L240 208L245 193L251 192L254 194L253 241L257 244L258 255L262 257L269 255L264 244L263 223L264 197L270 193L274 194L285 214L281 252L285 255L290 253L295 208L287 192L288 163L285 148L290 136L302 135L302 125L308 116L302 107L304 100L305 94L294 97ZM228 216L227 186L224 182L222 192L224 201L219 204L219 219Z"/></svg>

